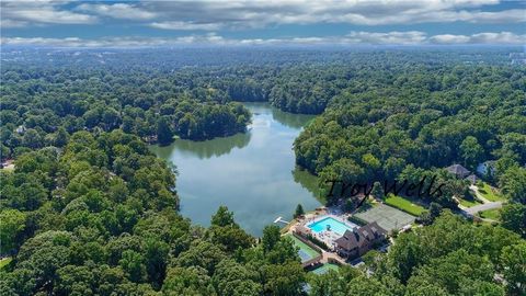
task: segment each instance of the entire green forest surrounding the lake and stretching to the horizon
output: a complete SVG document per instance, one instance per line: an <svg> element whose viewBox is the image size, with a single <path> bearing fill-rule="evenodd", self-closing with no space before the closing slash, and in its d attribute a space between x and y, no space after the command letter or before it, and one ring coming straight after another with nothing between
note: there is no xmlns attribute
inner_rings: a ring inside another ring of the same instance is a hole
<svg viewBox="0 0 526 296"><path fill-rule="evenodd" d="M2 52L1 158L15 166L0 171L1 257L13 258L0 294L524 295L526 69L508 53ZM244 132L236 101L320 114L294 149L322 184L435 174L445 194L423 202L445 209L366 269L324 275L304 271L277 226L253 238L226 207L192 225L147 143ZM499 225L450 210L468 183L442 169L487 160L507 198Z"/></svg>

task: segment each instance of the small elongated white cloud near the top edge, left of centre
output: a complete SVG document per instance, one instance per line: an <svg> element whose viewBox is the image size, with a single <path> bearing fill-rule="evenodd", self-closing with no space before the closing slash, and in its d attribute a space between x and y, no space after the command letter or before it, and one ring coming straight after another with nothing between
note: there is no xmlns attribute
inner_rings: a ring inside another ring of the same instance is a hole
<svg viewBox="0 0 526 296"><path fill-rule="evenodd" d="M114 19L126 20L151 20L157 16L157 13L144 10L136 5L127 3L115 4L80 4L77 10L96 13Z"/></svg>

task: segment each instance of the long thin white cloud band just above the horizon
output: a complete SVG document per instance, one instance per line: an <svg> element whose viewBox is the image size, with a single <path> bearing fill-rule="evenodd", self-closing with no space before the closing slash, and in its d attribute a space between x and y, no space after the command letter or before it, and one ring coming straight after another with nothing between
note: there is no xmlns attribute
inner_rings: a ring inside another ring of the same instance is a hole
<svg viewBox="0 0 526 296"><path fill-rule="evenodd" d="M23 38L4 37L2 45L36 45L56 47L139 47L168 45L427 45L427 44L499 44L522 45L526 43L526 35L516 35L510 32L478 33L473 35L434 35L426 36L419 31L409 32L351 32L344 36L331 37L296 37L296 38L247 38L229 39L215 33L204 35L188 35L174 38L162 37L107 37L99 39L69 38Z"/></svg>

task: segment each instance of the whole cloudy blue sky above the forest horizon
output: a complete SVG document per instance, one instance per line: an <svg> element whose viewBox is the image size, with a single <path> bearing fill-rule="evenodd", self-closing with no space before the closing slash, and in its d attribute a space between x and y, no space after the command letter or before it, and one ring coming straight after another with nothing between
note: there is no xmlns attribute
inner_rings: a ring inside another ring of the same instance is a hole
<svg viewBox="0 0 526 296"><path fill-rule="evenodd" d="M2 45L526 44L526 0L19 0L0 5Z"/></svg>

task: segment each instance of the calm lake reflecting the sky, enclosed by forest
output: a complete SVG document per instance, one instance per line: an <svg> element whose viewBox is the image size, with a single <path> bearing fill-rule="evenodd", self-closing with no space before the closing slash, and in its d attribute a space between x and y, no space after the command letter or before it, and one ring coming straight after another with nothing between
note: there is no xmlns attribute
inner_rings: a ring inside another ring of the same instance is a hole
<svg viewBox="0 0 526 296"><path fill-rule="evenodd" d="M298 204L306 210L321 205L315 197L316 178L295 168L293 151L294 139L313 116L266 103L244 105L252 112L244 134L206 141L178 139L150 149L176 166L183 216L208 226L217 208L226 205L241 227L261 236L275 218L291 219Z"/></svg>

